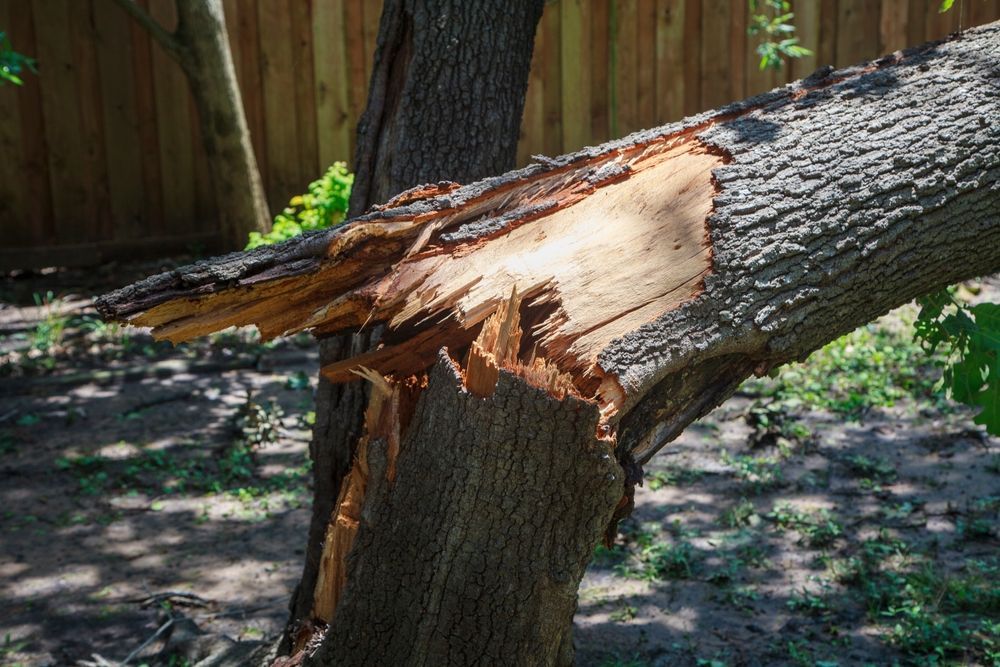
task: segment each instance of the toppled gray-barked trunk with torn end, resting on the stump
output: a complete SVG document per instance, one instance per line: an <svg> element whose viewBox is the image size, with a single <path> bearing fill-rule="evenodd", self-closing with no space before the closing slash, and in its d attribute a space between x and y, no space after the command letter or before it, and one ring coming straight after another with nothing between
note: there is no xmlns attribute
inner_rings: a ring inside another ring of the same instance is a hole
<svg viewBox="0 0 1000 667"><path fill-rule="evenodd" d="M750 372L1000 267L997 25L103 297L187 340L387 322L325 369L407 375L516 287L525 350L645 458ZM666 406L666 407L664 407ZM663 419L669 415L669 418Z"/></svg>

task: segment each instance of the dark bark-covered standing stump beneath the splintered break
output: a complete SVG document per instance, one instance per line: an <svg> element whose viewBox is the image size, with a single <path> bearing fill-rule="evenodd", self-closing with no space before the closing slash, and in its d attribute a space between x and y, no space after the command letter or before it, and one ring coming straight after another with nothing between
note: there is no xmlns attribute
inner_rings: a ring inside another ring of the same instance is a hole
<svg viewBox="0 0 1000 667"><path fill-rule="evenodd" d="M442 353L392 485L384 441L369 446L351 578L305 664L566 664L577 586L623 493L597 425L592 403L507 372L473 396Z"/></svg>

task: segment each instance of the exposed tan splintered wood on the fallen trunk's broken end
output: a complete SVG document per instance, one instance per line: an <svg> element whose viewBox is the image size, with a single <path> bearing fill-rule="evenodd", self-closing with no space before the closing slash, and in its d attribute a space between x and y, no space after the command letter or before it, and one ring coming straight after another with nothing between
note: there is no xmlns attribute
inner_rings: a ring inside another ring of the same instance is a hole
<svg viewBox="0 0 1000 667"><path fill-rule="evenodd" d="M223 276L157 302L132 323L180 341L251 323L269 338L383 322L378 349L324 373L350 381L363 365L407 377L429 368L441 347L466 354L515 292L518 312L507 317L516 316L523 333L503 353L535 369L526 373L568 374L581 396L613 405L620 387L599 367L601 351L703 289L712 259L712 170L722 163L681 133L467 194L426 186L399 200L409 208L393 202L331 233L325 255L244 272L234 282ZM536 364L526 351L545 361Z"/></svg>

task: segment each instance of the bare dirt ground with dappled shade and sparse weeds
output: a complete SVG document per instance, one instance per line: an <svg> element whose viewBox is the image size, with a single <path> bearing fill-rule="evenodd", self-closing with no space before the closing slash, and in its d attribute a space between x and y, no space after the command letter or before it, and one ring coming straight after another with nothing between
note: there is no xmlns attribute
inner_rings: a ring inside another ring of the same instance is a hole
<svg viewBox="0 0 1000 667"><path fill-rule="evenodd" d="M285 619L315 344L95 319L157 268L0 279L2 665L155 664L182 619ZM939 400L845 416L762 386L647 467L581 587L579 664L1000 664L1000 440Z"/></svg>

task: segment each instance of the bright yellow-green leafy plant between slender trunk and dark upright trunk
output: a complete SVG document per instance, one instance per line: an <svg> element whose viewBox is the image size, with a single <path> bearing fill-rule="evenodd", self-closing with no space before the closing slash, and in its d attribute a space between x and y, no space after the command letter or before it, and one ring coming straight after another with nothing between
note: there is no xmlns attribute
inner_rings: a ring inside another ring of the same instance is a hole
<svg viewBox="0 0 1000 667"><path fill-rule="evenodd" d="M344 221L351 198L354 174L343 162L335 162L326 173L309 184L305 194L292 197L284 211L274 218L267 234L250 232L247 250L281 243L303 232L326 229Z"/></svg>

